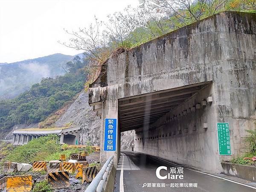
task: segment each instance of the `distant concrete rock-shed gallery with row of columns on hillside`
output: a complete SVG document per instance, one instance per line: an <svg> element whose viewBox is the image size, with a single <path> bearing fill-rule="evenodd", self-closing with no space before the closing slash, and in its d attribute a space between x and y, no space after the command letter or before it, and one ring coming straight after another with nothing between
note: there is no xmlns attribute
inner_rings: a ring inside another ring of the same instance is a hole
<svg viewBox="0 0 256 192"><path fill-rule="evenodd" d="M80 127L56 128L56 129L39 129L39 128L20 129L20 130L13 131L12 143L14 145L24 145L35 138L47 136L50 134L56 134L60 136L60 143L78 145L79 131L80 131Z"/></svg>

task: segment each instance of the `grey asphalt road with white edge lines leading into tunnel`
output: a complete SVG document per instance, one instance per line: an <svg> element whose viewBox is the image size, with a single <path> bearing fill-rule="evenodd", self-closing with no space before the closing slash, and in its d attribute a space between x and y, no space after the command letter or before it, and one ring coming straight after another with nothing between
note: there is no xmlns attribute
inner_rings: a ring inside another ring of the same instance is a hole
<svg viewBox="0 0 256 192"><path fill-rule="evenodd" d="M180 168L174 163L149 155L122 151L118 163L114 192L255 192L256 186L237 182L236 177L211 175L183 167L183 179L159 179L156 169L166 166L160 175L170 173L170 168ZM181 169L179 169L181 170ZM231 179L230 179L231 178Z"/></svg>

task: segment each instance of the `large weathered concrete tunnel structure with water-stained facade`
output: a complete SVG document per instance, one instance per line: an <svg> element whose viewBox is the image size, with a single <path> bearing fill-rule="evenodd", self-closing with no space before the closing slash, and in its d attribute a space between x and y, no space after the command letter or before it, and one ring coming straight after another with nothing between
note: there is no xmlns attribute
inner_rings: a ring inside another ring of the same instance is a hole
<svg viewBox="0 0 256 192"><path fill-rule="evenodd" d="M111 56L89 87L102 119L101 165L113 154L117 165L129 130L134 151L211 173L241 154L256 122L253 22L249 13L222 12ZM106 118L118 122L116 151L104 151ZM229 133L224 154L220 123Z"/></svg>

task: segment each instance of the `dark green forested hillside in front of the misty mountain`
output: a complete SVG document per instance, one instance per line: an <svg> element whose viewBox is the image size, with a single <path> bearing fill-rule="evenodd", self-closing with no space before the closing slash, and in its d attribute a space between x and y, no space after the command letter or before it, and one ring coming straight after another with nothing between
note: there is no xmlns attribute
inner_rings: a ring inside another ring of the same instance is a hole
<svg viewBox="0 0 256 192"><path fill-rule="evenodd" d="M76 56L67 63L68 73L64 76L44 78L15 99L0 101L0 129L11 128L18 123L38 123L56 111L54 122L63 112L57 110L83 89L86 65L87 61Z"/></svg>

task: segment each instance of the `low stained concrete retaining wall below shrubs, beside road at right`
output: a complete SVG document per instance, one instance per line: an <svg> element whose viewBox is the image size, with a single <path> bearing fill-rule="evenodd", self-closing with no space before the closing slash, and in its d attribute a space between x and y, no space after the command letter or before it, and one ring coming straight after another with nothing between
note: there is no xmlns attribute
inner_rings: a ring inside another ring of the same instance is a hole
<svg viewBox="0 0 256 192"><path fill-rule="evenodd" d="M256 167L238 165L233 163L221 163L225 175L236 176L242 179L256 182Z"/></svg>

